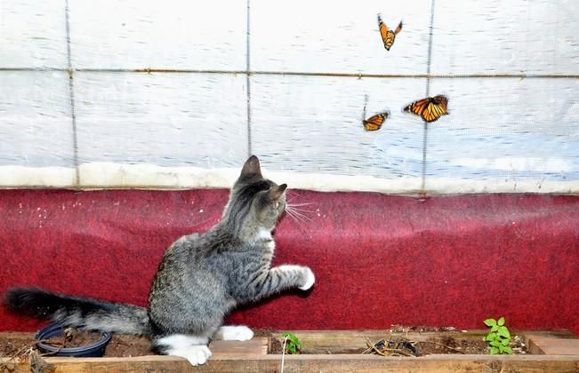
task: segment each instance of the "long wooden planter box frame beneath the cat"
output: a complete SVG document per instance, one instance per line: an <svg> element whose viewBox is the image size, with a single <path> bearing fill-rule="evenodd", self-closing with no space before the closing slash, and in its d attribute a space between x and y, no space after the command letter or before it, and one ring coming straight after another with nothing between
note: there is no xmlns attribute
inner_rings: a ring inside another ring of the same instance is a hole
<svg viewBox="0 0 579 373"><path fill-rule="evenodd" d="M579 371L579 339L567 331L522 331L529 353L524 355L432 354L422 357L384 357L372 354L334 354L366 341L387 336L385 330L362 331L295 331L305 352L318 354L284 356L284 372L448 372L448 371ZM449 332L410 332L415 341L436 340ZM460 338L482 338L485 331L454 331ZM1 334L0 334L1 337ZM282 355L268 354L268 337L255 337L248 342L216 341L211 345L213 357L207 364L191 367L189 362L173 356L139 356L130 358L60 358L47 357L55 372L279 372ZM28 361L13 365L15 372L29 372Z"/></svg>

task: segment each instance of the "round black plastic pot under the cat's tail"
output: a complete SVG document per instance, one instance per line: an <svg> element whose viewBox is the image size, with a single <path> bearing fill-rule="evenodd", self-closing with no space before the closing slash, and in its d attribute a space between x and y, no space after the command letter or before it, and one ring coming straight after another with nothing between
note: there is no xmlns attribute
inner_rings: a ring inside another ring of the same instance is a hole
<svg viewBox="0 0 579 373"><path fill-rule="evenodd" d="M48 324L36 333L36 340L41 341L50 337L58 337L64 333L65 327L60 324ZM81 347L60 348L56 345L38 343L37 347L44 353L53 353L54 356L76 356L76 357L101 357L105 353L105 348L109 344L112 333L102 332L101 340L92 345L83 345Z"/></svg>

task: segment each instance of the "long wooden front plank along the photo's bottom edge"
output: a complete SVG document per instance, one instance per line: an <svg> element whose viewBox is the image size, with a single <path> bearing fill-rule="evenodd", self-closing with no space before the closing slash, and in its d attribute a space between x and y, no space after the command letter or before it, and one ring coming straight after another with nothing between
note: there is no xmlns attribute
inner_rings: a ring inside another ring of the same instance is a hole
<svg viewBox="0 0 579 373"><path fill-rule="evenodd" d="M191 367L188 361L172 356L141 356L134 358L47 358L58 372L275 372L281 369L280 355L219 355L207 364ZM526 371L576 372L579 355L569 356L491 356L491 355L431 355L422 358L382 357L375 355L287 355L285 372L448 372L448 371ZM15 370L28 372L28 364L20 363Z"/></svg>

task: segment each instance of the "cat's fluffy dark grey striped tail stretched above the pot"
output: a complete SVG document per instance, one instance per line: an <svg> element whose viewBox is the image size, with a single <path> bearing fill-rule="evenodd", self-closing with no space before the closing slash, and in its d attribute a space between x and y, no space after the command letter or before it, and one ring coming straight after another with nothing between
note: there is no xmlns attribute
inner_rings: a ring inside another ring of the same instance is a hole
<svg viewBox="0 0 579 373"><path fill-rule="evenodd" d="M149 334L147 309L139 306L69 297L38 288L8 290L4 306L12 313L58 321L66 326L122 334Z"/></svg>

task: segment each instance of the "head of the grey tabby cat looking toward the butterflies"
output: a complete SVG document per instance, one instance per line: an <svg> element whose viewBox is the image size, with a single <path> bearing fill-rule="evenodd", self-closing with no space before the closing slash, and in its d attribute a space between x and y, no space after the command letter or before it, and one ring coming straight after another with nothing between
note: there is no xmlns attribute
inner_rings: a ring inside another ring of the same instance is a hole
<svg viewBox="0 0 579 373"><path fill-rule="evenodd" d="M237 227L273 229L285 210L285 188L261 176L255 155L245 161L239 178L231 188L223 218Z"/></svg>

